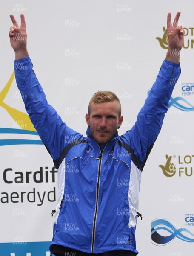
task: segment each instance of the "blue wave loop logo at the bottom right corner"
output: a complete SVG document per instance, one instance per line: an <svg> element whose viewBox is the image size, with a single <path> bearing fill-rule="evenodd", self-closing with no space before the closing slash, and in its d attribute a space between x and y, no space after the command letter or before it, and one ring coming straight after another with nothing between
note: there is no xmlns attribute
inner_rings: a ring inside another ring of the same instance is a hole
<svg viewBox="0 0 194 256"><path fill-rule="evenodd" d="M172 223L163 218L151 221L151 240L153 244L163 246L175 238L188 243L194 243L194 234L186 228L176 228Z"/></svg>

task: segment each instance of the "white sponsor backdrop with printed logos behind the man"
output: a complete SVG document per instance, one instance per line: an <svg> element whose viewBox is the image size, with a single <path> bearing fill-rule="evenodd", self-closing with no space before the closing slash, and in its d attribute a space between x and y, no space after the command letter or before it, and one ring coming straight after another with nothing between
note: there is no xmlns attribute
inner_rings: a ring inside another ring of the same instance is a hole
<svg viewBox="0 0 194 256"><path fill-rule="evenodd" d="M140 256L194 255L194 2L1 3L0 91L13 72L9 14L13 13L20 23L22 12L26 17L29 55L48 102L68 126L82 134L87 128L88 101L97 90L117 94L124 116L119 133L131 129L165 58L167 13L171 12L174 18L179 10L185 45L181 53L182 74L172 97L180 105L179 109L169 108L143 170L139 207L143 220L138 220L136 231ZM57 174L43 145L15 142L14 139L40 138L15 130L23 130L24 124L14 109L26 113L15 79L6 96L0 94L0 256L48 256ZM16 145L12 145L14 142ZM169 172L172 164L177 166L176 172ZM15 183L16 177L23 183ZM155 219L161 221L151 226ZM160 246L151 239L151 227L158 227L160 236L170 236L171 232L177 235L166 244L161 239Z"/></svg>

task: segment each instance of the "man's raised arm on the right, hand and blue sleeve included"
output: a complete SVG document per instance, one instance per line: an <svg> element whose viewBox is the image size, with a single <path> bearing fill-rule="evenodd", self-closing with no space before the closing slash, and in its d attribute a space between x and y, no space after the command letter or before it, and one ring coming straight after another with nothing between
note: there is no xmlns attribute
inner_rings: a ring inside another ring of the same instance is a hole
<svg viewBox="0 0 194 256"><path fill-rule="evenodd" d="M168 13L168 41L169 49L166 59L160 68L157 79L153 84L143 108L137 116L137 121L130 131L120 136L120 140L128 140L132 152L132 159L140 162L138 168L143 170L147 157L163 124L165 113L168 110L174 85L180 76L180 49L183 47L184 31L177 26L180 12L177 13L173 25L171 14ZM173 54L177 52L177 54Z"/></svg>

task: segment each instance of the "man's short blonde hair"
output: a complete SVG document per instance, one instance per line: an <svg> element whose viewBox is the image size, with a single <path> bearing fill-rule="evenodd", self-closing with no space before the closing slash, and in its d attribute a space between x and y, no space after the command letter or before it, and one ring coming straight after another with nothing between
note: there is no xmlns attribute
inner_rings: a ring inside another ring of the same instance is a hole
<svg viewBox="0 0 194 256"><path fill-rule="evenodd" d="M114 94L113 92L110 92L110 91L98 91L97 93L94 94L94 96L91 98L89 105L88 105L88 114L90 115L90 113L91 113L91 105L93 103L112 102L115 100L119 103L119 117L120 117L120 115L121 115L120 100L116 94Z"/></svg>

